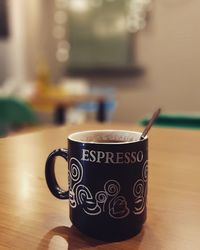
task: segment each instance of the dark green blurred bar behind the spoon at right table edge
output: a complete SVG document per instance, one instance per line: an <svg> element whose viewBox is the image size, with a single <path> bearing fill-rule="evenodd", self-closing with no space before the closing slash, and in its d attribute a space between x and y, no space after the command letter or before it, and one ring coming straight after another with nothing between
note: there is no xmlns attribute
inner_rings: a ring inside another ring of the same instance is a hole
<svg viewBox="0 0 200 250"><path fill-rule="evenodd" d="M149 119L149 117L145 117L139 121L139 124L145 126ZM154 125L157 127L200 129L200 114L160 114Z"/></svg>

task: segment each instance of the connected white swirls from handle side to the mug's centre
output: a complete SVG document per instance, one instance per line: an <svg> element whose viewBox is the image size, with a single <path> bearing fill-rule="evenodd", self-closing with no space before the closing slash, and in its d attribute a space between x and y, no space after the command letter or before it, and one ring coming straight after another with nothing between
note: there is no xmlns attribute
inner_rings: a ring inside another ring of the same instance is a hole
<svg viewBox="0 0 200 250"><path fill-rule="evenodd" d="M89 188L81 184L82 178L82 164L72 157L69 162L69 201L72 208L81 205L88 215L98 215L108 208L108 214L114 219L128 216L130 210L125 197L119 195L121 190L119 182L107 181L104 190L97 192L93 198Z"/></svg>

